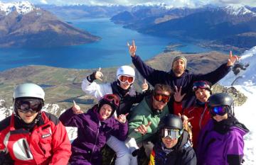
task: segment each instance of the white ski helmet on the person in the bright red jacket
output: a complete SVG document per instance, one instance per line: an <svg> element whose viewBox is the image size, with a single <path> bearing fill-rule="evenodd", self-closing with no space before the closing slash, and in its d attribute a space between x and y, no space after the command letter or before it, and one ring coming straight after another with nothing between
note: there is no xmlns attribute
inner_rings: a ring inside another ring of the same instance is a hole
<svg viewBox="0 0 256 165"><path fill-rule="evenodd" d="M20 84L14 90L14 99L23 97L41 98L44 101L45 93L41 86L32 83Z"/></svg>

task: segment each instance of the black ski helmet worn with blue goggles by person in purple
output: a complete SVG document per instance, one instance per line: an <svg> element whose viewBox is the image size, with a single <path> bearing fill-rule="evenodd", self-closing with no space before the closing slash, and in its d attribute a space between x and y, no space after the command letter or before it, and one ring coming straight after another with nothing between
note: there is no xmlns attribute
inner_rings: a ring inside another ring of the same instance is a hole
<svg viewBox="0 0 256 165"><path fill-rule="evenodd" d="M234 114L234 100L228 93L214 93L208 98L208 108L213 106L228 106L228 116Z"/></svg>

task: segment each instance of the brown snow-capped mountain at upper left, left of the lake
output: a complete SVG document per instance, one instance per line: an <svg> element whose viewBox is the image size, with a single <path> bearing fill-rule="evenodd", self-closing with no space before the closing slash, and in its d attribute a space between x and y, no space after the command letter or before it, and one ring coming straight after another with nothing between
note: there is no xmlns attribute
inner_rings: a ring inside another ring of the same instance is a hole
<svg viewBox="0 0 256 165"><path fill-rule="evenodd" d="M0 2L0 47L60 47L100 40L27 1Z"/></svg>

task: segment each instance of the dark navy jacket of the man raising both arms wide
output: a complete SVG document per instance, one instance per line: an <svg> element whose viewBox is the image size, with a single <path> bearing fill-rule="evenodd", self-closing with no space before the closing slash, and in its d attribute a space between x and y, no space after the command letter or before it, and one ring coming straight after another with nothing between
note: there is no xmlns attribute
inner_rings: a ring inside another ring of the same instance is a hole
<svg viewBox="0 0 256 165"><path fill-rule="evenodd" d="M230 67L227 67L227 63L225 63L218 67L218 69L215 69L215 71L208 74L190 74L188 73L188 70L186 70L186 72L184 72L181 76L177 77L172 70L170 72L164 72L149 67L137 55L132 57L132 63L139 73L142 74L142 76L144 76L144 78L149 81L152 86L156 84L167 84L173 89L175 86L178 88L182 86L181 94L186 93L186 96L182 101L183 108L193 106L193 103L196 101L196 97L192 91L194 81L207 80L211 84L215 84L226 74L228 74L228 72L230 72ZM171 110L172 108L169 109Z"/></svg>

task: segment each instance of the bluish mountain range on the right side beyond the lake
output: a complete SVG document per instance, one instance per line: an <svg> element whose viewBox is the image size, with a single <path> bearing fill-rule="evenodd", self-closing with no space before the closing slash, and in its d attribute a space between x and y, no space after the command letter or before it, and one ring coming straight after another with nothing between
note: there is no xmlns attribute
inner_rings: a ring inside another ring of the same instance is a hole
<svg viewBox="0 0 256 165"><path fill-rule="evenodd" d="M146 6L113 16L114 23L140 33L208 41L248 49L256 45L256 12L249 6L164 8Z"/></svg>

